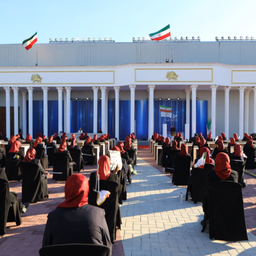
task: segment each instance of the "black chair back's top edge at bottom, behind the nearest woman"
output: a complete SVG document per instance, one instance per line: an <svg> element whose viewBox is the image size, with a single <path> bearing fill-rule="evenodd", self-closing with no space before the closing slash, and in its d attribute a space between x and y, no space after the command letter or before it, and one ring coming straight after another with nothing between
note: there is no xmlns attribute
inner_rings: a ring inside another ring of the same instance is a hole
<svg viewBox="0 0 256 256"><path fill-rule="evenodd" d="M70 256L70 255L87 255L87 256L110 256L110 248L106 245L99 244L58 244L42 247L39 250L40 256Z"/></svg>

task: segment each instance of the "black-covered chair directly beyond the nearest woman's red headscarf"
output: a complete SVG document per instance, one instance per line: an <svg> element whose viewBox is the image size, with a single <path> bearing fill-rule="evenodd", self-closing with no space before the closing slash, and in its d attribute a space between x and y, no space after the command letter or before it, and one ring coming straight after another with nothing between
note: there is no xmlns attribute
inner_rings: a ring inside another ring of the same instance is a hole
<svg viewBox="0 0 256 256"><path fill-rule="evenodd" d="M70 166L69 155L67 153L55 153L53 156L53 180L67 180L73 174L73 166Z"/></svg>

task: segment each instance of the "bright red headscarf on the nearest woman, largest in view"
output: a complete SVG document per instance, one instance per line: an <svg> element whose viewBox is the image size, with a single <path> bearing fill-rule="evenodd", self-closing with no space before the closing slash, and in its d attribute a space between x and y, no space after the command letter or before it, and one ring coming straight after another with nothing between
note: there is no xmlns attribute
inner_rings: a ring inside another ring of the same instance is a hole
<svg viewBox="0 0 256 256"><path fill-rule="evenodd" d="M81 207L88 204L89 181L82 174L73 174L65 184L65 201L56 208Z"/></svg>

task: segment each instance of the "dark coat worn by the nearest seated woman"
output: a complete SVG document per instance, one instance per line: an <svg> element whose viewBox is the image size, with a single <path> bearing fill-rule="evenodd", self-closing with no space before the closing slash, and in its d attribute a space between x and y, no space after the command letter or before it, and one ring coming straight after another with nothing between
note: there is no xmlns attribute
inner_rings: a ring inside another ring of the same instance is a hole
<svg viewBox="0 0 256 256"><path fill-rule="evenodd" d="M47 217L42 247L56 244L99 244L112 250L105 211L86 204L57 208Z"/></svg>

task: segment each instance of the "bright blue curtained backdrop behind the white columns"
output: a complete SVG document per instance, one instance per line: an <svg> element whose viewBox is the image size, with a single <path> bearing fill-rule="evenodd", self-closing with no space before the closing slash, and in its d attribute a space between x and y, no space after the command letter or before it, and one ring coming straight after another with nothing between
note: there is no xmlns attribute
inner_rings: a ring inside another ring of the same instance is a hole
<svg viewBox="0 0 256 256"><path fill-rule="evenodd" d="M33 137L43 131L42 100L33 100ZM159 105L172 108L173 117L160 117ZM64 108L64 103L62 103ZM119 101L119 139L124 140L130 134L130 100ZM115 136L115 100L108 101L108 132ZM71 133L77 132L79 127L83 132L93 133L93 100L71 100ZM62 111L62 125L64 127L64 113ZM185 100L155 100L154 101L154 131L162 134L162 124L167 123L167 131L172 125L177 132L185 131L186 101ZM207 100L197 101L197 133L206 136ZM190 101L191 124L191 101ZM101 100L98 100L98 129L101 127ZM58 131L58 101L48 100L48 134ZM190 127L191 132L191 127ZM28 133L28 101L27 101L27 132ZM148 100L135 100L135 135L138 139L148 138ZM24 132L25 134L25 132Z"/></svg>

